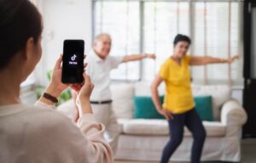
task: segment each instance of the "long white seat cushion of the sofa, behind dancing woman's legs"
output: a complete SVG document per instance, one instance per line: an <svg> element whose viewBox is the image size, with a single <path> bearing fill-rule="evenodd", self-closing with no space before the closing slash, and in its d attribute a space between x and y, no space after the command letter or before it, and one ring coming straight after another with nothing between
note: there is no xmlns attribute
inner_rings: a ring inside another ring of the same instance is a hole
<svg viewBox="0 0 256 163"><path fill-rule="evenodd" d="M203 121L207 130L208 137L223 137L225 135L225 126L218 121ZM123 132L129 135L169 135L169 127L166 120L146 120L134 119L123 121ZM191 133L185 127L185 136L191 136Z"/></svg>

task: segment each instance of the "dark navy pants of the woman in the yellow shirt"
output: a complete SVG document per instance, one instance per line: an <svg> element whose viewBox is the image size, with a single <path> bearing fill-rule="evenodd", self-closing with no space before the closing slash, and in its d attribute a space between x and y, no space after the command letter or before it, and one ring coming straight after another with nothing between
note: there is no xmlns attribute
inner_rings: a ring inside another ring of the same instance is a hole
<svg viewBox="0 0 256 163"><path fill-rule="evenodd" d="M201 152L206 138L206 130L202 125L200 116L196 110L189 110L183 114L173 115L173 120L169 122L171 139L166 144L161 157L161 163L166 163L170 160L173 152L183 141L184 126L192 132L194 142L191 149L191 163L200 163Z"/></svg>

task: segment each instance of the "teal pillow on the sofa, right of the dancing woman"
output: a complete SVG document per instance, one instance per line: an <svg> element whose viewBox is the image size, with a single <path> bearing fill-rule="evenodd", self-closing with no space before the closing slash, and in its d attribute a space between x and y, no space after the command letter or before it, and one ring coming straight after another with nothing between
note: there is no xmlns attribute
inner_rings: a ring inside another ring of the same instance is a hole
<svg viewBox="0 0 256 163"><path fill-rule="evenodd" d="M212 96L196 96L195 110L202 121L213 121L212 117Z"/></svg>

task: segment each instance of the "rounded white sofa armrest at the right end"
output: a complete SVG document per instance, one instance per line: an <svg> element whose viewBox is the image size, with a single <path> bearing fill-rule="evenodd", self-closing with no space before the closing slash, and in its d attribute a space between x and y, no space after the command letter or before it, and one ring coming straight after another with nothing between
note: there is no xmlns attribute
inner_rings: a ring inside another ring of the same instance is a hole
<svg viewBox="0 0 256 163"><path fill-rule="evenodd" d="M247 121L247 114L241 104L235 99L224 103L221 110L221 122L227 127L227 136L233 136L241 131L241 126Z"/></svg>

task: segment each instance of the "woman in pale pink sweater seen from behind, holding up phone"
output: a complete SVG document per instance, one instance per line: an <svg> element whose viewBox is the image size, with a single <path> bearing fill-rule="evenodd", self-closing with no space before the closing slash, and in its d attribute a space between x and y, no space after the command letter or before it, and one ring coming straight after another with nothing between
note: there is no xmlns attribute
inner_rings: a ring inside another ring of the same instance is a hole
<svg viewBox="0 0 256 163"><path fill-rule="evenodd" d="M92 116L90 77L84 74L83 85L61 83L62 56L38 102L20 102L20 83L41 58L42 30L41 14L30 1L0 2L0 162L113 162L105 128ZM79 94L77 124L53 110L67 87Z"/></svg>

